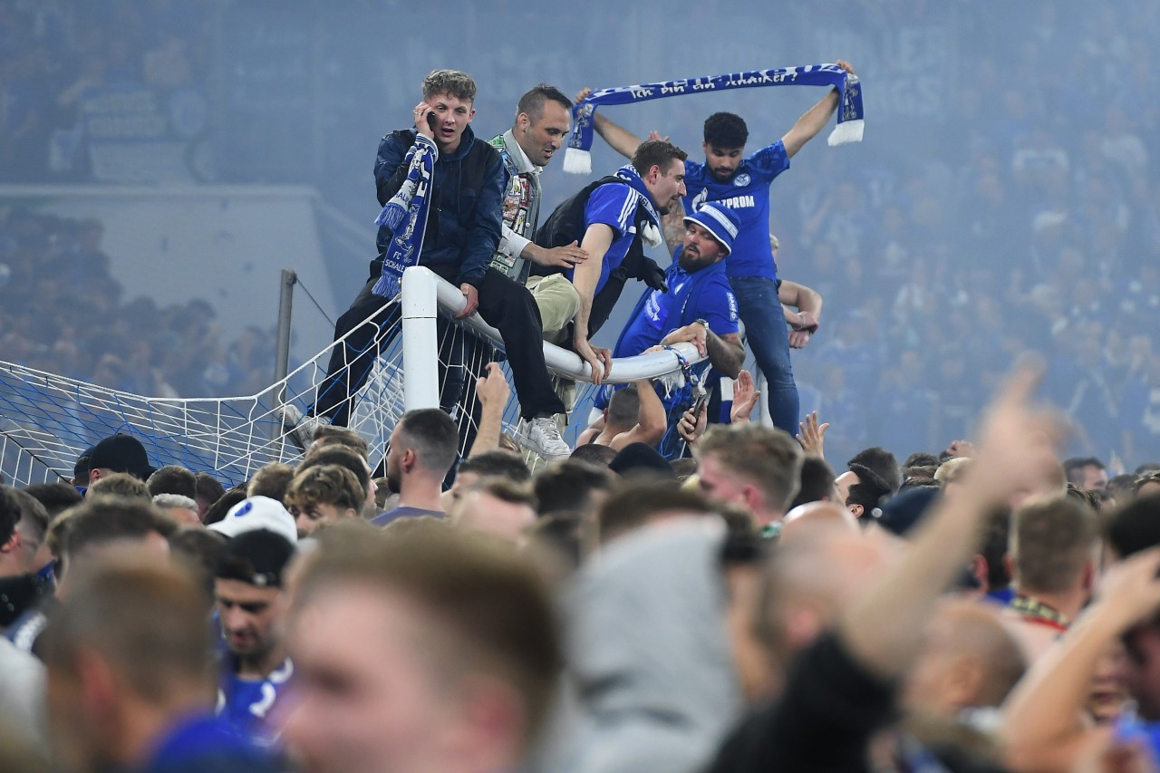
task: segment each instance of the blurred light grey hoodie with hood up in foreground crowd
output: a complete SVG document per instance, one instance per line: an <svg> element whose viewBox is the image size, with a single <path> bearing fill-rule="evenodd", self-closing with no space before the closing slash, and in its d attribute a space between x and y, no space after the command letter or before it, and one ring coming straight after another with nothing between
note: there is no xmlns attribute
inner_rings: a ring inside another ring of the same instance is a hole
<svg viewBox="0 0 1160 773"><path fill-rule="evenodd" d="M693 773L744 703L726 636L724 525L681 518L612 542L570 588L570 721L545 773Z"/></svg>

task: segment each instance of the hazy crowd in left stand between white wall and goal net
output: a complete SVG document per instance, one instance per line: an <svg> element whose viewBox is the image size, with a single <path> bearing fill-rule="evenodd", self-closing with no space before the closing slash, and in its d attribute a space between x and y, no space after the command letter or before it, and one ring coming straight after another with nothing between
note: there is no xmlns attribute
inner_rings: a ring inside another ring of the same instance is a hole
<svg viewBox="0 0 1160 773"><path fill-rule="evenodd" d="M273 374L274 334L222 340L212 305L125 298L103 227L0 211L0 360L155 397L253 395Z"/></svg>

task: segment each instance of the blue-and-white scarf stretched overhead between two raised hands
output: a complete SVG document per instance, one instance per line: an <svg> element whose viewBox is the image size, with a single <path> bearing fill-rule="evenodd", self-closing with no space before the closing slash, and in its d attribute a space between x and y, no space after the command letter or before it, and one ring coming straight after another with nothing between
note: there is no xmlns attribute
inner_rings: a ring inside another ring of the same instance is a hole
<svg viewBox="0 0 1160 773"><path fill-rule="evenodd" d="M630 104L666 96L686 96L705 92L723 92L731 88L756 86L834 86L841 101L838 110L838 127L829 135L831 145L862 142L862 87L857 75L851 75L835 64L805 65L800 67L775 67L751 70L708 78L668 80L639 86L602 88L572 108L575 127L564 153L564 171L574 174L592 172L593 114L602 104Z"/></svg>

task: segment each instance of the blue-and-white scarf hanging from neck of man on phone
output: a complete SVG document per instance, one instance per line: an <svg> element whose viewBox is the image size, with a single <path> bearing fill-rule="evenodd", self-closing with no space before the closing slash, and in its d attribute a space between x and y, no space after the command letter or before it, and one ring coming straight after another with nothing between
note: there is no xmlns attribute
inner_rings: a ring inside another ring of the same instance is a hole
<svg viewBox="0 0 1160 773"><path fill-rule="evenodd" d="M403 289L403 272L419 262L427 231L427 211L430 209L428 194L437 159L435 140L416 133L415 144L403 159L408 165L407 179L375 219L375 225L391 231L391 241L383 253L383 275L371 290L377 296L397 297Z"/></svg>

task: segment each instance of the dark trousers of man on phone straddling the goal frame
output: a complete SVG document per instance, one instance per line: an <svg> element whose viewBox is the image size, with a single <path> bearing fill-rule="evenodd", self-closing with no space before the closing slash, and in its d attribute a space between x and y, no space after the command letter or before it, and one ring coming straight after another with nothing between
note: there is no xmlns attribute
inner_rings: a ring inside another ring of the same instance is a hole
<svg viewBox="0 0 1160 773"><path fill-rule="evenodd" d="M448 269L455 270L454 267L448 267L436 273L443 275ZM367 383L375 357L390 346L401 330L396 324L401 312L400 304L387 302L371 291L380 272L382 262L372 261L370 279L334 325L335 340L354 332L343 346L335 347L331 353L326 378L318 389L318 402L307 411L313 416L328 417L339 426L345 427L350 421L354 395ZM455 277L444 275L443 279L454 282ZM370 322L360 324L372 313L375 317ZM503 337L503 348L523 417L530 419L542 413L565 413L564 404L552 388L548 366L544 364L544 345L541 338L543 325L539 309L528 288L488 268L479 287L479 316ZM462 384L454 386L455 395L448 395L452 400L458 398L463 389Z"/></svg>

